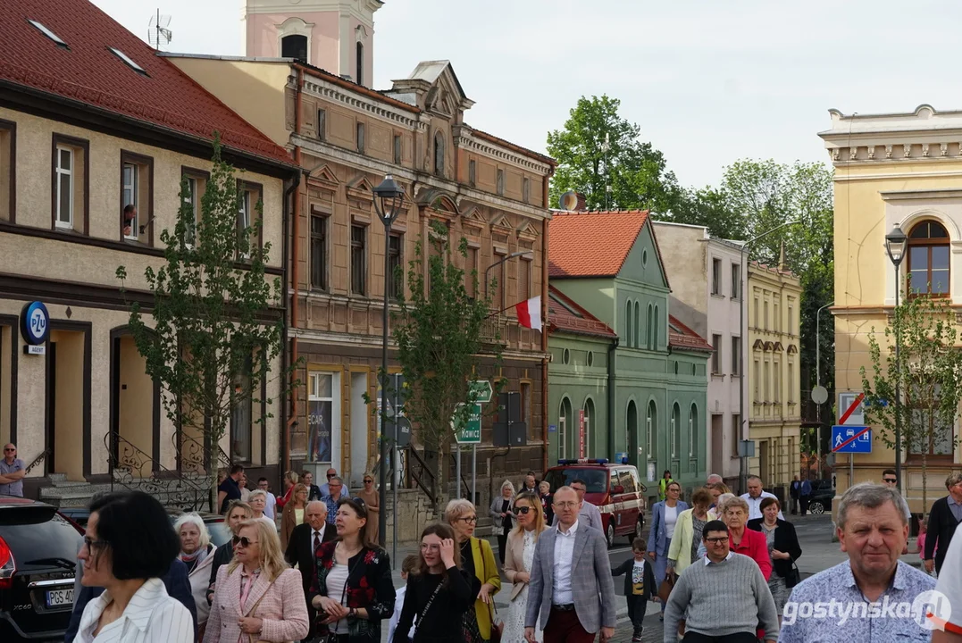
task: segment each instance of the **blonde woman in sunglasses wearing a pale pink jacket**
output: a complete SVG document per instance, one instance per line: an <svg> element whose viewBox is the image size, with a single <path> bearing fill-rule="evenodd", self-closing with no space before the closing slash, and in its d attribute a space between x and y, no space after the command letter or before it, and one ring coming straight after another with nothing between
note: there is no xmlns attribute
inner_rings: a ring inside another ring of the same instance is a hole
<svg viewBox="0 0 962 643"><path fill-rule="evenodd" d="M277 531L266 521L241 523L234 559L217 570L216 587L204 643L283 643L307 636L300 573L288 567Z"/></svg>

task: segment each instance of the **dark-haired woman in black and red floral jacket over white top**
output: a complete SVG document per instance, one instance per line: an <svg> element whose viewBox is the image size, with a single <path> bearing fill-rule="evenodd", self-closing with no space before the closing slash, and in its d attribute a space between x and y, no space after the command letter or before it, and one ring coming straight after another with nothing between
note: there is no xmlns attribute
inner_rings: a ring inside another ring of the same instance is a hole
<svg viewBox="0 0 962 643"><path fill-rule="evenodd" d="M381 620L394 611L394 584L387 552L365 538L367 507L343 498L334 519L337 540L320 546L309 600L317 610L317 633L338 643L380 643Z"/></svg>

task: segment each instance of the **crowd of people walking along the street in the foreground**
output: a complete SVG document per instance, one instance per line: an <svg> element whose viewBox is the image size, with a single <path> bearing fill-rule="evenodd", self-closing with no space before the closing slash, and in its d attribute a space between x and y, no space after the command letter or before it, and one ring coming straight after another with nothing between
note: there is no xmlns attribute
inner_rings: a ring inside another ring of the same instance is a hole
<svg viewBox="0 0 962 643"><path fill-rule="evenodd" d="M225 481L240 489L238 473ZM366 493L356 496L343 493L333 469L319 487L309 474L286 476L279 498L260 484L246 500L228 488L220 503L233 537L221 547L197 514L171 525L151 496L107 494L90 507L65 640L379 643L389 621L392 643L605 643L614 635L614 578L621 576L633 641L642 640L651 601L661 603L667 643L920 639L911 615L866 623L853 614L839 623L797 609L829 598L911 603L936 588L930 575L899 560L910 514L889 480L848 489L837 518L848 561L805 581L795 527L757 477L743 496L710 477L691 491L691 506L670 472L663 480L647 539L635 538L632 555L614 568L584 481L552 490L532 473L519 493L503 482L489 507L497 558L475 534L477 507L452 500L443 521L421 532L418 554L404 559L405 586L396 592L391 560L371 529L369 476ZM924 560L937 560L940 570L962 568L962 538L946 546L938 522L958 522L962 476L949 477L947 488L929 519L937 554L920 539ZM268 507L277 507L273 519ZM502 570L511 588L508 608L498 612ZM940 591L962 595L960 577L941 575Z"/></svg>

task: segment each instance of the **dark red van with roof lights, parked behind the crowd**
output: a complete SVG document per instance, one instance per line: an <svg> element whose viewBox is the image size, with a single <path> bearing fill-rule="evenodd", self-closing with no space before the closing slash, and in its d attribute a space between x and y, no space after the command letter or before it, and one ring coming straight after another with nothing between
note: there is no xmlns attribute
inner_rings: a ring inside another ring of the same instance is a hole
<svg viewBox="0 0 962 643"><path fill-rule="evenodd" d="M630 464L615 464L607 459L561 459L544 475L551 492L575 479L585 481L585 501L598 507L608 546L624 535L630 544L645 528L646 486L638 469Z"/></svg>

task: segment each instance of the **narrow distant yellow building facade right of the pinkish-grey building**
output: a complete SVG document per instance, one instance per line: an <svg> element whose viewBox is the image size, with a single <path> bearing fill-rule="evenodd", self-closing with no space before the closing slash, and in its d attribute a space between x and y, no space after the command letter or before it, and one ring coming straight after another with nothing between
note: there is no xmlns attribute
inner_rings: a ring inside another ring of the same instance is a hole
<svg viewBox="0 0 962 643"><path fill-rule="evenodd" d="M748 264L748 472L766 488L783 487L798 470L801 285L783 266Z"/></svg>

